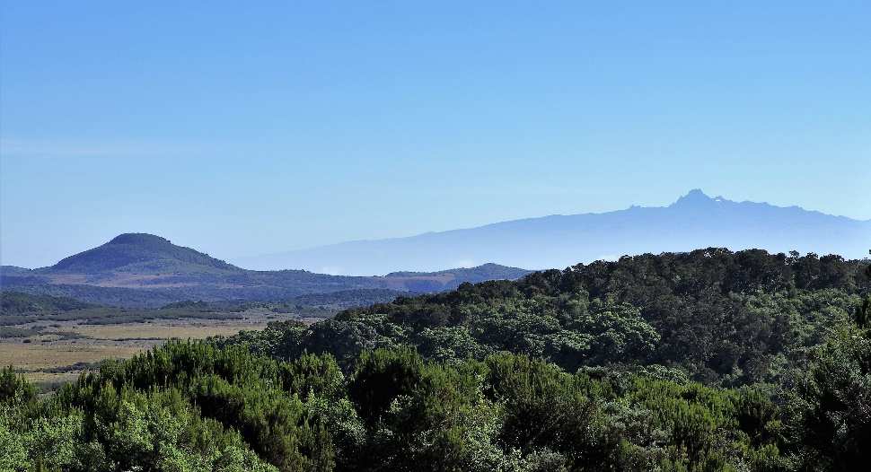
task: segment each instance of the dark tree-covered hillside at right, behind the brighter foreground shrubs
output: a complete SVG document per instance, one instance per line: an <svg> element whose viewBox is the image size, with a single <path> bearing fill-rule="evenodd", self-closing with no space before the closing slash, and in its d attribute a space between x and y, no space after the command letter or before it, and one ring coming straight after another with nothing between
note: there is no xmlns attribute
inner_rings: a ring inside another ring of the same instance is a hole
<svg viewBox="0 0 871 472"><path fill-rule="evenodd" d="M447 361L509 351L567 371L656 363L706 383L758 382L785 373L784 350L804 355L862 308L868 267L760 249L645 254L347 310L280 349L341 363L359 346L409 344Z"/></svg>

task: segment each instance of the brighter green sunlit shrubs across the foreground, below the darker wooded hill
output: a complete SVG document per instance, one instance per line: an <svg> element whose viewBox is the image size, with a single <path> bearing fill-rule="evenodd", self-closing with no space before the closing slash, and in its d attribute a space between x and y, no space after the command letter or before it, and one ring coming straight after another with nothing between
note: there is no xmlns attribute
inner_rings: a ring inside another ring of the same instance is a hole
<svg viewBox="0 0 871 472"><path fill-rule="evenodd" d="M172 342L52 397L4 396L0 460L12 470L775 470L792 457L781 450L805 445L759 389L572 374L516 354L434 363L376 349L354 365L346 378L327 354L283 362ZM4 385L27 390L6 372ZM836 438L840 450L856 449L852 434Z"/></svg>

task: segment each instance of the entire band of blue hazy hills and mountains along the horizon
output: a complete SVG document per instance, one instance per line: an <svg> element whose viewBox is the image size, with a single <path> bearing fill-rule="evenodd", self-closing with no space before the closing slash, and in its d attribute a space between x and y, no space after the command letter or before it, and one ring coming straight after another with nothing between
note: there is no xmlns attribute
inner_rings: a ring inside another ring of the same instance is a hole
<svg viewBox="0 0 871 472"><path fill-rule="evenodd" d="M560 268L622 255L708 247L795 249L863 258L871 248L871 221L797 206L734 202L692 190L664 207L544 216L409 238L351 241L241 261L245 267L292 270L248 270L159 236L128 233L52 267L0 267L0 287L124 306L161 306L182 300L275 301L343 291L360 298L359 291L367 290L382 291L378 296L383 298L383 290L438 292L463 282L516 279L530 272L516 267ZM504 265L440 270L458 260ZM319 274L323 267L387 275ZM418 272L401 271L408 268Z"/></svg>

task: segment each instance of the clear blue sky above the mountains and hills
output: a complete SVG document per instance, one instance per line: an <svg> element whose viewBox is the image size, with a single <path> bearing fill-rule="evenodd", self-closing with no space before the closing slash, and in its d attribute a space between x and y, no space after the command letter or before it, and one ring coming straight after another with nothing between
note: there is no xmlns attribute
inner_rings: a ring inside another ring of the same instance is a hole
<svg viewBox="0 0 871 472"><path fill-rule="evenodd" d="M233 258L690 188L871 218L871 3L0 8L0 250Z"/></svg>

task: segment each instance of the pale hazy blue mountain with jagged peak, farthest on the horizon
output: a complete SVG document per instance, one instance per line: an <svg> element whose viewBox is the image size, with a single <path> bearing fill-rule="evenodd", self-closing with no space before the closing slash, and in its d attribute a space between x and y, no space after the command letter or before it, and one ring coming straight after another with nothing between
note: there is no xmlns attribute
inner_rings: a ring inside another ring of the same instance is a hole
<svg viewBox="0 0 871 472"><path fill-rule="evenodd" d="M664 207L550 215L408 238L350 241L237 262L242 267L338 267L344 274L378 274L402 267L438 270L458 260L567 267L579 261L708 247L795 249L862 258L871 248L871 221L797 206L735 202L696 189Z"/></svg>

